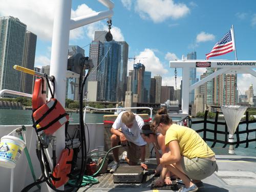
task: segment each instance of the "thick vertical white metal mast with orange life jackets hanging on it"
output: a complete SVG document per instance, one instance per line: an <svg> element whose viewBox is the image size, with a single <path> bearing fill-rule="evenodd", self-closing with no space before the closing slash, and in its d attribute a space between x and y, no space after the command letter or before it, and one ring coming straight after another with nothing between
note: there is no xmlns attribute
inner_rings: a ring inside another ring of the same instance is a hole
<svg viewBox="0 0 256 192"><path fill-rule="evenodd" d="M70 33L72 0L55 0L50 75L55 77L55 98L65 106L66 71ZM52 87L52 86L51 86ZM53 89L52 89L53 90ZM65 147L65 129L62 126L56 133L56 156ZM64 189L64 186L59 187ZM41 188L41 191L46 191ZM48 191L53 191L48 187Z"/></svg>

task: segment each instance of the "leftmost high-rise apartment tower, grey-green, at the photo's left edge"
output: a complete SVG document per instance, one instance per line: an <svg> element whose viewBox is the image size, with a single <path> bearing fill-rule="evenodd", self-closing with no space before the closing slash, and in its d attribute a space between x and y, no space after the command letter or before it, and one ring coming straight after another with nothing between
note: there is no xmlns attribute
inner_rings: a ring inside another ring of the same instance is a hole
<svg viewBox="0 0 256 192"><path fill-rule="evenodd" d="M26 29L18 18L0 17L0 90L20 91L20 72L13 66L22 66Z"/></svg>

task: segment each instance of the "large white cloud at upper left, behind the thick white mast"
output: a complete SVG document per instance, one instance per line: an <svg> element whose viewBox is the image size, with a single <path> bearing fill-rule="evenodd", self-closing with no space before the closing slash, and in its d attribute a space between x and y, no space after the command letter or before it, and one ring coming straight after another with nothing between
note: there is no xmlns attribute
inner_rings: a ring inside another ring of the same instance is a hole
<svg viewBox="0 0 256 192"><path fill-rule="evenodd" d="M27 30L35 33L39 39L51 40L53 30L53 19L55 14L55 1L34 1L34 0L0 0L0 15L14 16L19 18L21 22L27 25ZM103 10L99 10L103 11ZM28 14L29 13L29 14ZM96 11L89 8L86 4L81 4L76 10L71 10L71 18L96 13ZM100 27L99 27L100 26ZM90 39L94 38L93 30L107 29L107 24L97 22L85 27L80 27L70 31L70 39L81 39L88 36ZM89 32L89 33L88 33ZM123 39L121 30L113 27L113 36L117 36L118 40ZM116 39L117 40L117 39Z"/></svg>

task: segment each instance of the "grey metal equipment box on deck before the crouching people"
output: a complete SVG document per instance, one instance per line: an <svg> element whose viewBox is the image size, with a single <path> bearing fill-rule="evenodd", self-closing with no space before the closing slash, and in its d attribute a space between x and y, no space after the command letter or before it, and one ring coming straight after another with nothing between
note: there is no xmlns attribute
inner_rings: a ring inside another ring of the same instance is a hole
<svg viewBox="0 0 256 192"><path fill-rule="evenodd" d="M142 179L141 166L119 166L113 174L114 183L141 183Z"/></svg>

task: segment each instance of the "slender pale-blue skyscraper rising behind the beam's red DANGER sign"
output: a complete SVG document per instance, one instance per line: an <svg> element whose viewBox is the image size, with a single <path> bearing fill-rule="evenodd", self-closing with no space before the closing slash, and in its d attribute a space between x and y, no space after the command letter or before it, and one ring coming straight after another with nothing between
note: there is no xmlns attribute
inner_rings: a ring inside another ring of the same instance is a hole
<svg viewBox="0 0 256 192"><path fill-rule="evenodd" d="M187 54L187 60L194 60L197 59L197 52L191 52ZM196 68L190 68L189 71L189 86L191 86L191 84L194 84L198 81L197 78L197 69ZM195 90L192 90L189 92L189 103L194 103L195 100Z"/></svg>

